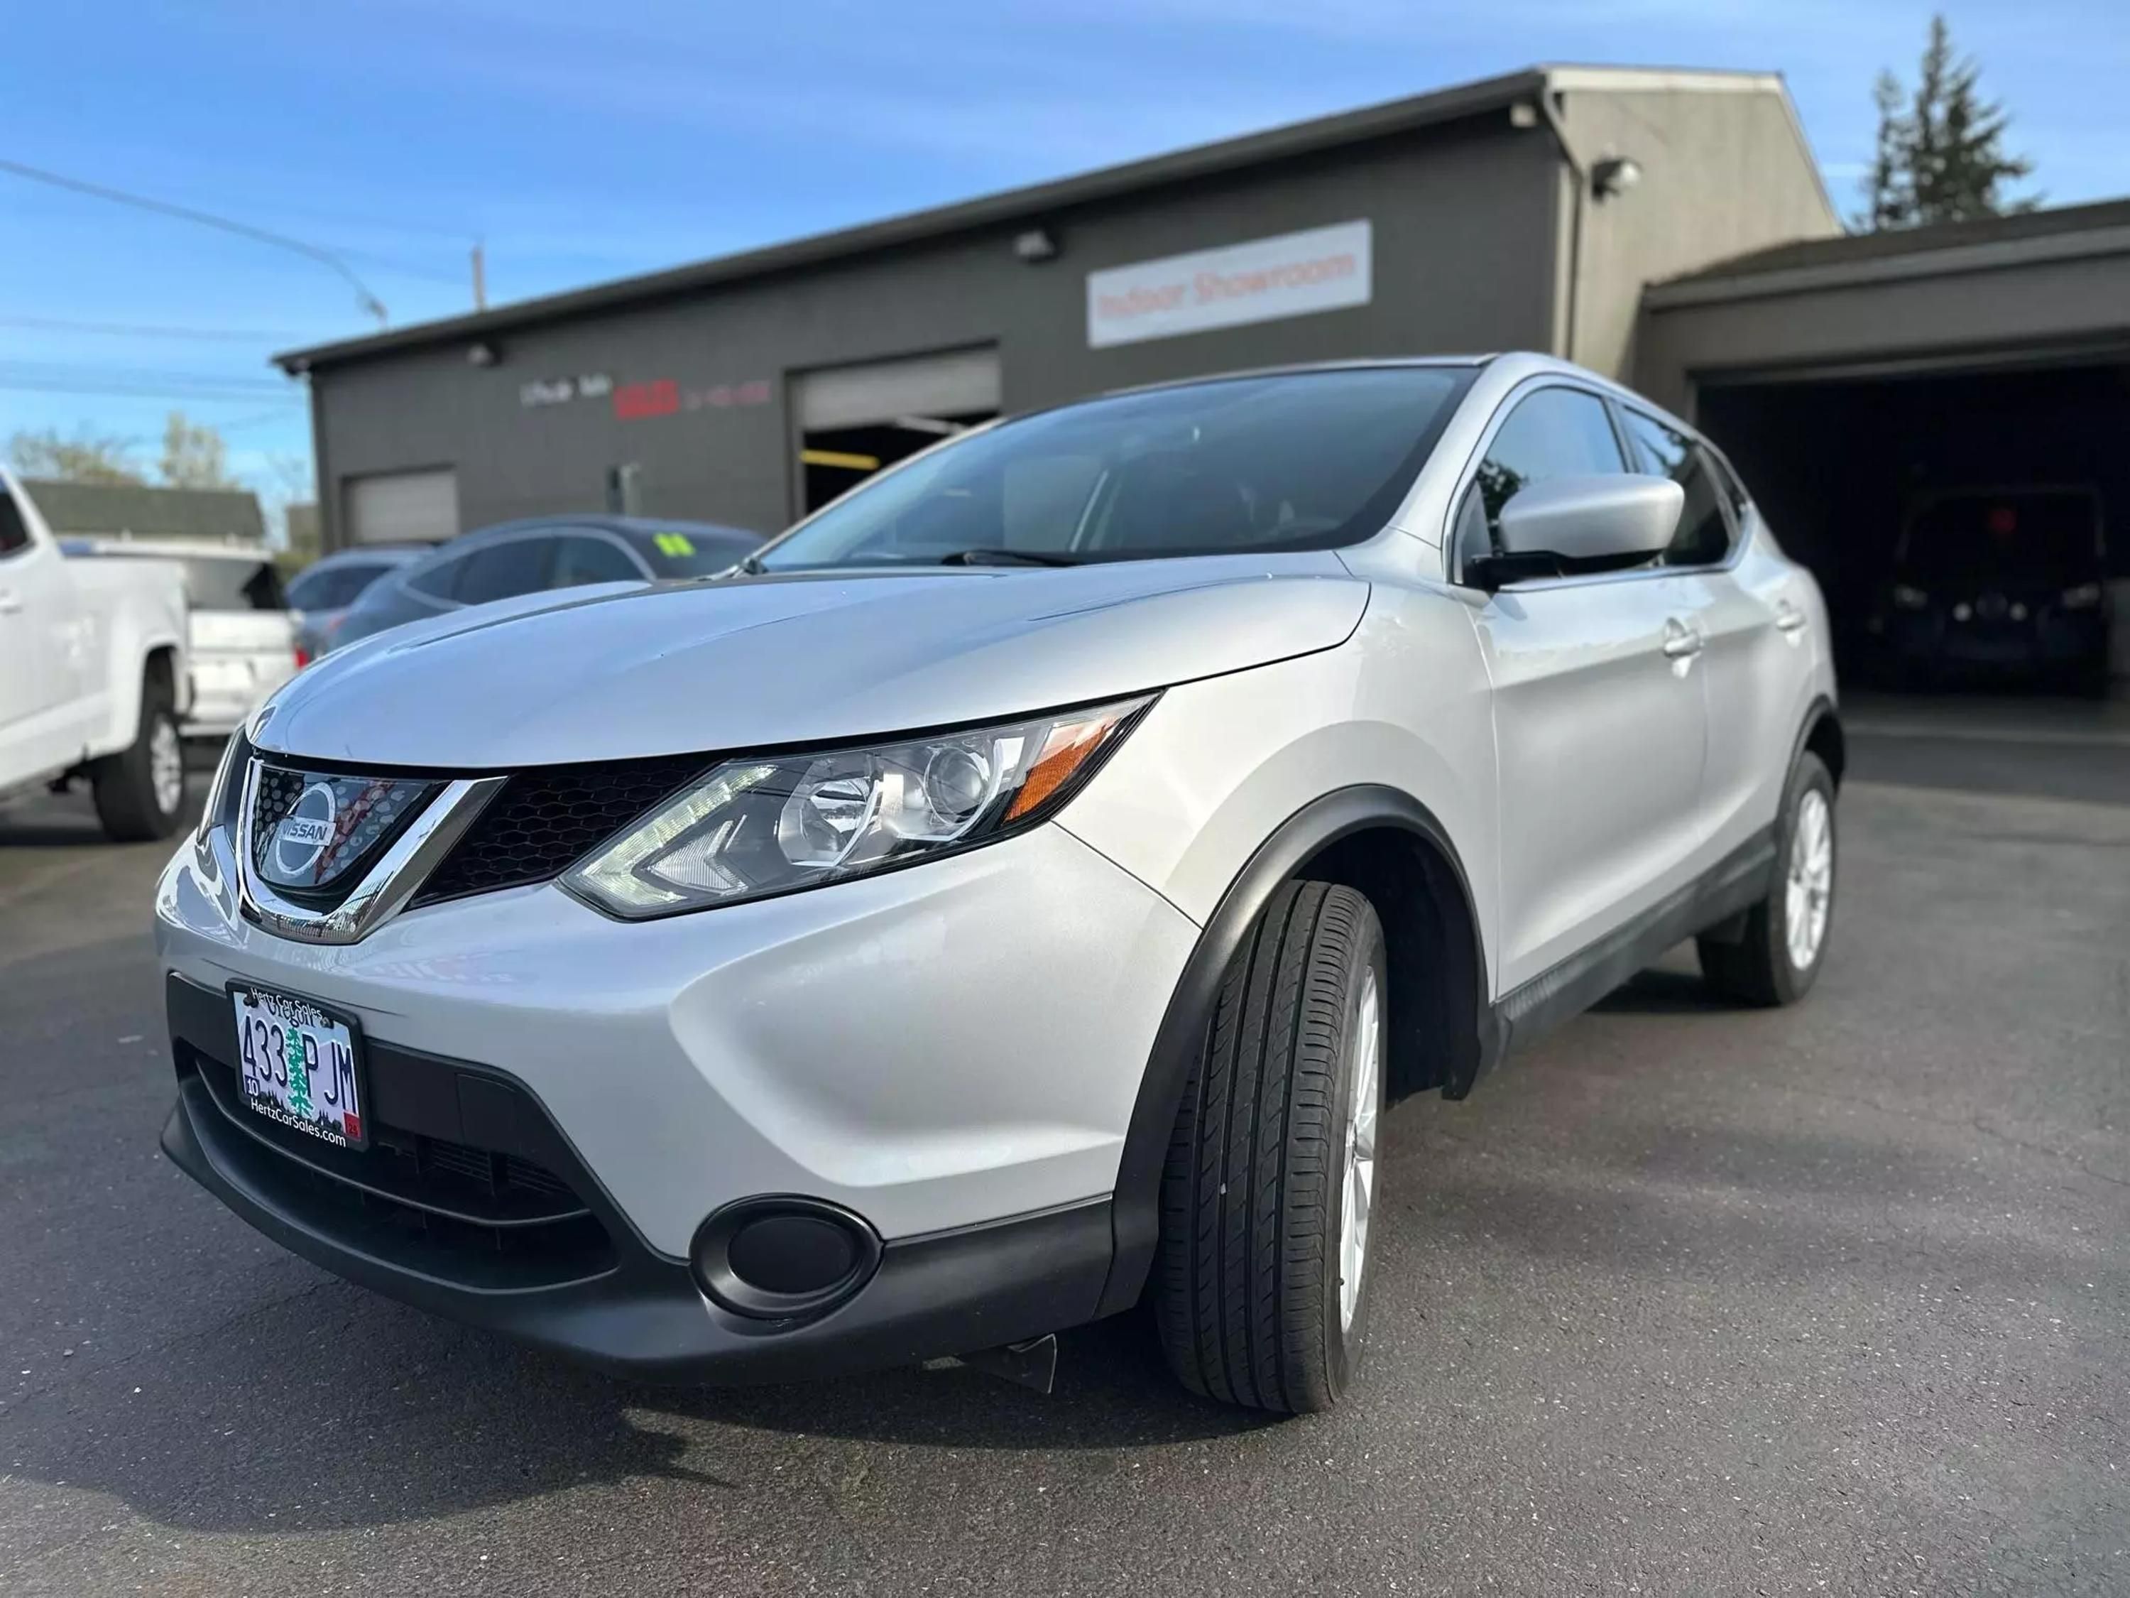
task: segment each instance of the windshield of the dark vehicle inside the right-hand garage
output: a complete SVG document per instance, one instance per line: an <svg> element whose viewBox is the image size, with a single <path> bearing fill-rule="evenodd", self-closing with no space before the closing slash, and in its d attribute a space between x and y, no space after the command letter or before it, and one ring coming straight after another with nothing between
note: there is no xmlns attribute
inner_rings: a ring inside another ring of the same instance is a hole
<svg viewBox="0 0 2130 1598"><path fill-rule="evenodd" d="M1951 494L1923 507L1902 541L1913 582L2072 588L2100 577L2100 505L2077 490Z"/></svg>

